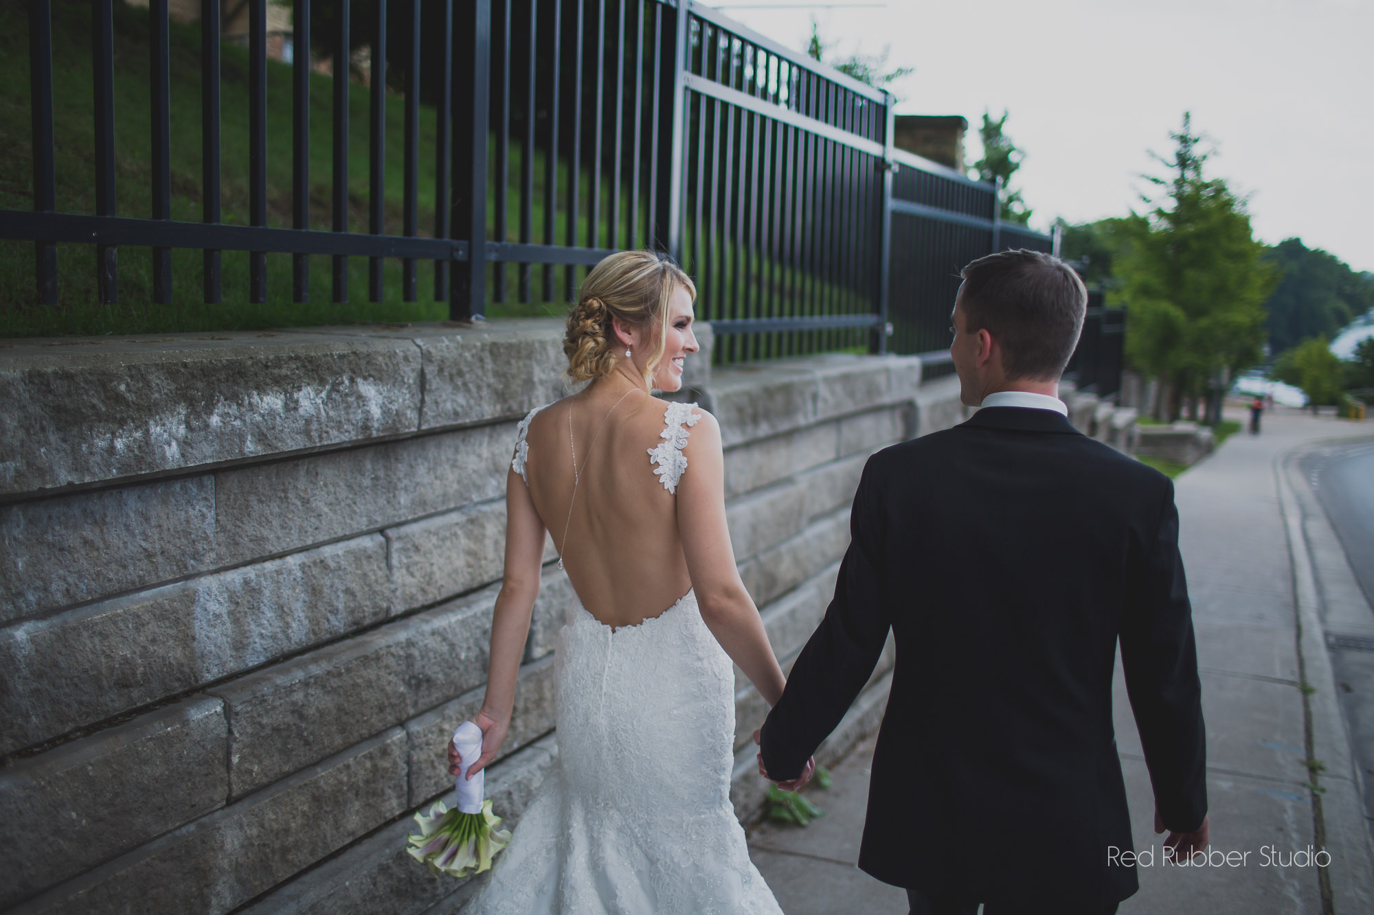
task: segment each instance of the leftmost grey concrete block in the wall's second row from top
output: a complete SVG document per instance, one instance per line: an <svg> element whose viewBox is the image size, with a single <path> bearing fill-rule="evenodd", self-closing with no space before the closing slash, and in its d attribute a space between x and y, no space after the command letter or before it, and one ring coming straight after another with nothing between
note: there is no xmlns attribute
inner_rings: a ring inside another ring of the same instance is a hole
<svg viewBox="0 0 1374 915"><path fill-rule="evenodd" d="M214 566L214 479L0 506L0 624Z"/></svg>

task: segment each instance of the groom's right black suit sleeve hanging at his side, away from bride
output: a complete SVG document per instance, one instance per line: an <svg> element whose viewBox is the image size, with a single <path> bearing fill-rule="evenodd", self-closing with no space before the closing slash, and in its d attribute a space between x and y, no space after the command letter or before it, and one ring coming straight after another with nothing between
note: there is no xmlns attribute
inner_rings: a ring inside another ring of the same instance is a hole
<svg viewBox="0 0 1374 915"><path fill-rule="evenodd" d="M1127 589L1121 666L1160 816L1171 830L1198 828L1206 816L1206 731L1173 484Z"/></svg>

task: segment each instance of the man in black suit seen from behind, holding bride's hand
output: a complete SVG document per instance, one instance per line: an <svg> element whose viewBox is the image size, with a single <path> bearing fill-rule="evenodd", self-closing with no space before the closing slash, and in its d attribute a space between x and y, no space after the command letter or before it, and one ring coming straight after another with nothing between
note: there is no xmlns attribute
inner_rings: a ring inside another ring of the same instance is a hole
<svg viewBox="0 0 1374 915"><path fill-rule="evenodd" d="M868 460L834 600L764 723L760 771L801 778L892 629L859 867L905 888L916 915L1110 914L1138 888L1121 855L1118 642L1156 831L1176 859L1208 844L1173 485L1066 419L1058 382L1087 305L1072 268L1021 250L962 276L949 352L981 409Z"/></svg>

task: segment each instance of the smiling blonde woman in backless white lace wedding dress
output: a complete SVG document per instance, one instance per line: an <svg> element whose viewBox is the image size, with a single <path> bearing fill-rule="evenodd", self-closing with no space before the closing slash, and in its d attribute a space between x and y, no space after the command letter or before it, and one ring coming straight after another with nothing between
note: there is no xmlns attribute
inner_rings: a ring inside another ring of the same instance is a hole
<svg viewBox="0 0 1374 915"><path fill-rule="evenodd" d="M591 383L518 426L470 772L506 738L545 530L581 606L555 648L558 760L464 915L780 915L749 860L730 775L731 661L769 706L782 669L735 569L720 427L650 394L682 387L695 294L666 257L603 260L563 338L569 376ZM449 747L455 775L458 761Z"/></svg>

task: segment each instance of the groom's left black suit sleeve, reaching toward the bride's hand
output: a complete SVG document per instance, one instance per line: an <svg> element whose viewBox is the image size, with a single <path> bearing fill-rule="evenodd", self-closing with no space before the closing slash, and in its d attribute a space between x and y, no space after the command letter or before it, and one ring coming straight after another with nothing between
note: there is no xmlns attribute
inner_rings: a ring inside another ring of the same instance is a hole
<svg viewBox="0 0 1374 915"><path fill-rule="evenodd" d="M872 675L888 640L882 570L882 485L864 466L849 512L849 550L840 563L835 596L824 620L787 677L782 699L763 727L763 760L768 776L794 779L829 736Z"/></svg>

